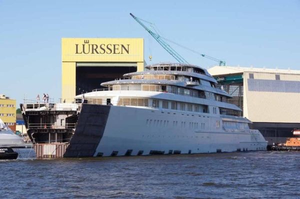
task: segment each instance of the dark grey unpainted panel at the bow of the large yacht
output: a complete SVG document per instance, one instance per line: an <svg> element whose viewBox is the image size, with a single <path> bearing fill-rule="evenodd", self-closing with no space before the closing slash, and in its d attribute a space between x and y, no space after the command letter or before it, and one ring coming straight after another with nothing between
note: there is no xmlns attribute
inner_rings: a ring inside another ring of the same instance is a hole
<svg viewBox="0 0 300 199"><path fill-rule="evenodd" d="M110 106L83 104L73 134L63 157L92 157L105 129Z"/></svg>

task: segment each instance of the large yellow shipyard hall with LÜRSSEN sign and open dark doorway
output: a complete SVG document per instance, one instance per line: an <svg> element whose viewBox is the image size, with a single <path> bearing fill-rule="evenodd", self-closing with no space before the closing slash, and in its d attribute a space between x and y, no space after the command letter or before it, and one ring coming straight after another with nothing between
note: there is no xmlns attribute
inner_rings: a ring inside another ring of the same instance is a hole
<svg viewBox="0 0 300 199"><path fill-rule="evenodd" d="M100 83L142 71L143 38L62 38L61 98L104 88Z"/></svg>

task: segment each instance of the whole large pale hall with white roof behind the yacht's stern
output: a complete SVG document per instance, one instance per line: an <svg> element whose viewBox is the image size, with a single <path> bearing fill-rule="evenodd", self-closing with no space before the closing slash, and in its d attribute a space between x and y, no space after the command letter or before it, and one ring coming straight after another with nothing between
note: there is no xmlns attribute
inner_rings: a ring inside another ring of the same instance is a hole
<svg viewBox="0 0 300 199"><path fill-rule="evenodd" d="M300 128L300 70L214 66L208 71L269 144L285 142Z"/></svg>

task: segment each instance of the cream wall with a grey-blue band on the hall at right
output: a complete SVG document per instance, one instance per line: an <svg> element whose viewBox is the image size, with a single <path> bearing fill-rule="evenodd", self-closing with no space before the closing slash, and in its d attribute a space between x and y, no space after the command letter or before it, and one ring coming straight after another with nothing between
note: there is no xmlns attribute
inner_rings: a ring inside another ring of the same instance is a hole
<svg viewBox="0 0 300 199"><path fill-rule="evenodd" d="M245 117L254 122L300 122L300 75L279 76L276 80L275 73L244 72Z"/></svg>

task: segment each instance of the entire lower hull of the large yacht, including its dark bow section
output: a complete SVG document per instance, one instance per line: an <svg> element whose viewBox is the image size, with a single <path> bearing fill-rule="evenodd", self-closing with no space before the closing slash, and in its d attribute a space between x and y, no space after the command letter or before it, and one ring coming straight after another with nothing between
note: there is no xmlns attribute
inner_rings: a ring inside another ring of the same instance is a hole
<svg viewBox="0 0 300 199"><path fill-rule="evenodd" d="M266 150L258 130L225 130L215 127L217 120L208 113L83 104L64 157Z"/></svg>

